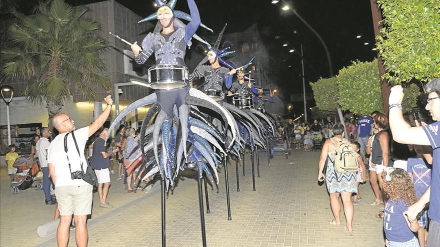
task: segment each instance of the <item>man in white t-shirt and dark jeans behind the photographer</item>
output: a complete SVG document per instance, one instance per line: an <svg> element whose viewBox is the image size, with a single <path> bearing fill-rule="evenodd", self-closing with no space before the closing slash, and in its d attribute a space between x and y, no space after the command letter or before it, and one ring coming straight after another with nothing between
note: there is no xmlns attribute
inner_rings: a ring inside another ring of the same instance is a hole
<svg viewBox="0 0 440 247"><path fill-rule="evenodd" d="M36 151L38 152L38 161L41 166L41 170L43 172L43 191L45 202L47 205L56 204L56 200L52 199L50 196L50 186L52 182L49 179L49 168L47 167L47 149L49 148L50 142L49 138L52 135L52 132L49 128L44 127L40 131L41 138L36 143Z"/></svg>

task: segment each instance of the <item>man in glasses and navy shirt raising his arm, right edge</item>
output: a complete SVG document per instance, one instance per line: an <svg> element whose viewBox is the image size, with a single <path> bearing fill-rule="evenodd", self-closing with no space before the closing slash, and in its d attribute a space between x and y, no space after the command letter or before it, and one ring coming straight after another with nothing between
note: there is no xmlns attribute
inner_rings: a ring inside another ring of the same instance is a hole
<svg viewBox="0 0 440 247"><path fill-rule="evenodd" d="M417 215L429 203L429 235L427 247L440 246L440 78L425 85L428 98L425 109L435 122L429 125L410 127L402 115L401 86L393 86L389 94L389 127L394 141L403 144L430 145L432 148L431 185L420 199L408 207L404 213L410 223L417 220Z"/></svg>

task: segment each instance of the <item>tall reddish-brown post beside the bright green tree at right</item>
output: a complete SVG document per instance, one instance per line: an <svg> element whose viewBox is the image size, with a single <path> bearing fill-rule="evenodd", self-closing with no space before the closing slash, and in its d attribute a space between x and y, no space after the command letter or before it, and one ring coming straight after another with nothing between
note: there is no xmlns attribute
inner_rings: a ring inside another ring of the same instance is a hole
<svg viewBox="0 0 440 247"><path fill-rule="evenodd" d="M382 21L382 14L380 12L379 6L377 5L376 0L370 0L369 1L371 5L371 15L373 19L373 27L374 27L374 37L377 37L379 35L379 30L381 27L383 27L381 24L379 26L379 23ZM377 53L377 64L379 66L379 80L380 80L380 90L382 92L382 104L383 104L383 111L388 114L388 97L389 93L391 91L391 85L386 81L382 79L383 74L385 74L385 67L383 66L383 61L379 54Z"/></svg>

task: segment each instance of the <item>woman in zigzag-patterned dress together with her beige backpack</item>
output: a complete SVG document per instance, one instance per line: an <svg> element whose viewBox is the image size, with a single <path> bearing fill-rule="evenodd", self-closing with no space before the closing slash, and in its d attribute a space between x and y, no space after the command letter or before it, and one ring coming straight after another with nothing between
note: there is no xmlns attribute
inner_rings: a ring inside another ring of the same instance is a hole
<svg viewBox="0 0 440 247"><path fill-rule="evenodd" d="M340 196L346 220L345 230L352 232L354 208L351 194L356 193L356 171L359 164L357 153L350 142L343 138L344 130L342 124L334 124L333 138L324 142L319 160L318 181L322 182L325 179L330 194L330 207L334 216L329 222L330 225L340 225ZM325 166L326 171L324 171Z"/></svg>

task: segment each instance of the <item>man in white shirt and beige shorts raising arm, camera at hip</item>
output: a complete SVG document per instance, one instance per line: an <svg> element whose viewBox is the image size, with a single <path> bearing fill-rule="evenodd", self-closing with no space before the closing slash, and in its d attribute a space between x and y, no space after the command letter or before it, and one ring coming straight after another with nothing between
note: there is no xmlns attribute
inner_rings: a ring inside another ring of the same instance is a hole
<svg viewBox="0 0 440 247"><path fill-rule="evenodd" d="M91 213L93 187L85 181L88 175L84 156L85 143L105 122L110 114L113 100L105 97L105 110L89 126L75 129L73 119L67 114L57 114L52 125L59 134L47 149L50 178L55 185L58 201L59 225L56 231L58 247L66 247L72 215L75 221L75 239L78 247L87 246L87 215Z"/></svg>

